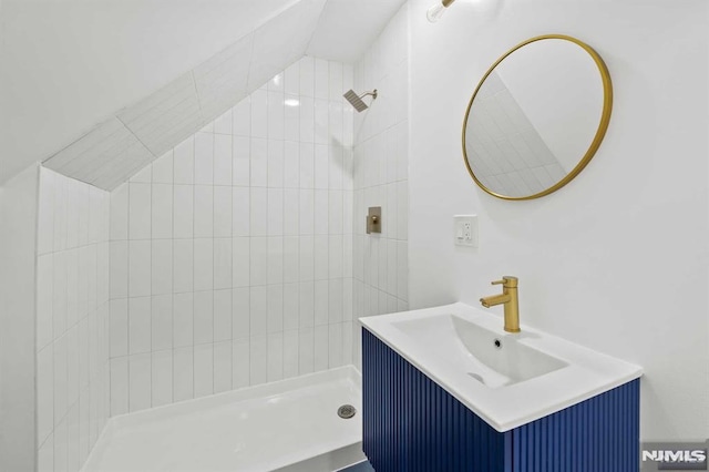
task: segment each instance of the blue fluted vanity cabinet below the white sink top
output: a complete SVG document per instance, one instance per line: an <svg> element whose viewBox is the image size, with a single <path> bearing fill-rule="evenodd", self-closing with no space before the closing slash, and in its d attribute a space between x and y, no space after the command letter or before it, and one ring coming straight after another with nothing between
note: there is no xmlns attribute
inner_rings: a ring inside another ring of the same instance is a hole
<svg viewBox="0 0 709 472"><path fill-rule="evenodd" d="M639 469L639 380L499 432L362 328L362 393L377 472Z"/></svg>

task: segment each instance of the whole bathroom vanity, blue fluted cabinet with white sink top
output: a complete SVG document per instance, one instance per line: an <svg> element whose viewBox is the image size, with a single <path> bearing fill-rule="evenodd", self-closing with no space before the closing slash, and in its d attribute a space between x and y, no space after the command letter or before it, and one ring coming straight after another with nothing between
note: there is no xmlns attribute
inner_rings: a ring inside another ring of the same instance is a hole
<svg viewBox="0 0 709 472"><path fill-rule="evenodd" d="M629 472L637 366L463 304L361 319L377 472Z"/></svg>

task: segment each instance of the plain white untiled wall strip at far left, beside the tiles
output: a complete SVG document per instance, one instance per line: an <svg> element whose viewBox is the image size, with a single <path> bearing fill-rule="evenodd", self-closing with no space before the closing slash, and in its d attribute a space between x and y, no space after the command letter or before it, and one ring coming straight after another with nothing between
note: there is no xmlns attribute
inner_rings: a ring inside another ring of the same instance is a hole
<svg viewBox="0 0 709 472"><path fill-rule="evenodd" d="M38 166L8 182L0 199L0 470L33 471L34 279Z"/></svg>

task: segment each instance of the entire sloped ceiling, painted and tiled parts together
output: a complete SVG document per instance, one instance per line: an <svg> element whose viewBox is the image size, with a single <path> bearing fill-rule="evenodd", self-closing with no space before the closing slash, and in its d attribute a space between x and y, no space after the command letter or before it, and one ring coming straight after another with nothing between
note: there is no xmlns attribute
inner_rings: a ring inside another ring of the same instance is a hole
<svg viewBox="0 0 709 472"><path fill-rule="evenodd" d="M50 157L106 189L302 54L351 61L404 2L1 1L0 184Z"/></svg>

